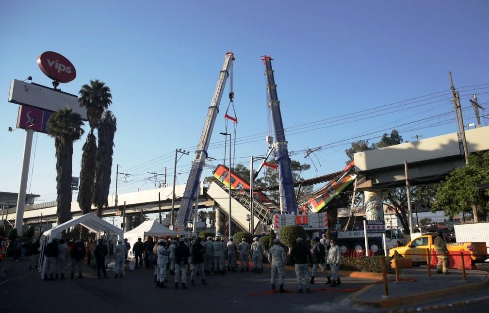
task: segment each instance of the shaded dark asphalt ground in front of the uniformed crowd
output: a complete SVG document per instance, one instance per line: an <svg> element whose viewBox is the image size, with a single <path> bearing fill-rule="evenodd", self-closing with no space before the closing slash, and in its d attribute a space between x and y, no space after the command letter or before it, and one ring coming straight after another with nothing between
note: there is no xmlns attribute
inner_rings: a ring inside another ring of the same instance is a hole
<svg viewBox="0 0 489 313"><path fill-rule="evenodd" d="M316 278L310 294L295 291L295 273L286 271L287 293L267 293L270 288L270 271L263 273L226 272L226 275L206 278L207 286L196 279L196 286L188 290L175 290L174 276L167 275L169 288L155 287L153 270L137 268L128 271L124 278L97 279L96 271L84 267L84 278L44 281L39 272L28 271L28 260L4 261L7 277L0 277L1 313L97 313L97 312L358 312L340 308L339 303L354 290L368 285L369 281L344 277L342 285L333 291L321 291L328 287L325 278ZM277 286L278 287L278 286ZM253 293L258 293L254 294ZM263 294L262 294L263 293Z"/></svg>

